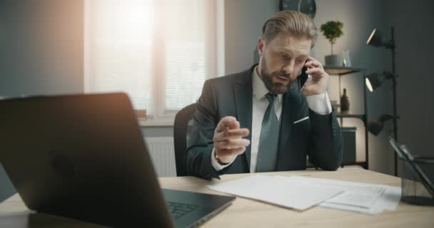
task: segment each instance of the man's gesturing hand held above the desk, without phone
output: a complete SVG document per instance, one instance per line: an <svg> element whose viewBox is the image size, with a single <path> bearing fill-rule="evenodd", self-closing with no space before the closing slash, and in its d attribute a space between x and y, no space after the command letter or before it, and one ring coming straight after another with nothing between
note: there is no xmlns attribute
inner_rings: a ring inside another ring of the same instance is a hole
<svg viewBox="0 0 434 228"><path fill-rule="evenodd" d="M218 160L223 163L232 162L237 155L241 155L250 140L244 139L248 135L248 128L240 128L240 123L232 116L226 116L218 122L214 130L214 152Z"/></svg>

